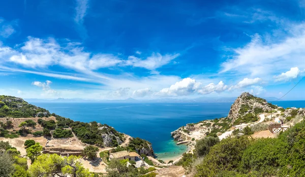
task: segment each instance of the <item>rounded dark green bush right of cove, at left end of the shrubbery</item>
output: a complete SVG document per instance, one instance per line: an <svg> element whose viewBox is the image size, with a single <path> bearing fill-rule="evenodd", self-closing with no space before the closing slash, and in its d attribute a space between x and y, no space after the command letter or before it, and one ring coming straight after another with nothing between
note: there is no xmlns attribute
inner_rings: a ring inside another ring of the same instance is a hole
<svg viewBox="0 0 305 177"><path fill-rule="evenodd" d="M195 153L197 157L207 155L210 148L215 144L219 143L219 141L220 140L218 137L212 137L212 136L208 136L198 140L195 145Z"/></svg>

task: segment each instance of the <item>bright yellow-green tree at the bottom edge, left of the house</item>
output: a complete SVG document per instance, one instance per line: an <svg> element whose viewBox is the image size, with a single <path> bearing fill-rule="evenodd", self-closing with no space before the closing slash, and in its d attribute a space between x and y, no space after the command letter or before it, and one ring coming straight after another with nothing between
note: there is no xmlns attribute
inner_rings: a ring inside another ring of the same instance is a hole
<svg viewBox="0 0 305 177"><path fill-rule="evenodd" d="M29 167L31 176L82 176L93 177L80 163L80 157L61 157L57 154L43 154Z"/></svg>

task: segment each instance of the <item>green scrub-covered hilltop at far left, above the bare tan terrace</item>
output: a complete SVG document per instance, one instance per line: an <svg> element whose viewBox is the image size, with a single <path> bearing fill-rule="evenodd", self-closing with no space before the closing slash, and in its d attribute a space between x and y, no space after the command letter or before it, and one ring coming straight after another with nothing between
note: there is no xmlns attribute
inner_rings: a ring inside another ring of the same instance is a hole
<svg viewBox="0 0 305 177"><path fill-rule="evenodd" d="M50 116L50 112L41 107L28 104L21 98L0 96L0 117L35 117Z"/></svg>

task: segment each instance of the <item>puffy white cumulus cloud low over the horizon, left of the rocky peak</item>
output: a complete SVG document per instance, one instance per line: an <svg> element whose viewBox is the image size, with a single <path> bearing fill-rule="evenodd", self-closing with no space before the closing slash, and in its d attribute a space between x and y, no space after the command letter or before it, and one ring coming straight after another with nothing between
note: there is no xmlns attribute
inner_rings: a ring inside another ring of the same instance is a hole
<svg viewBox="0 0 305 177"><path fill-rule="evenodd" d="M155 93L155 96L187 96L194 93L198 94L210 94L212 92L220 93L226 91L227 85L220 81L218 84L210 83L202 86L201 82L197 82L195 79L185 78L169 88L163 88L161 91Z"/></svg>

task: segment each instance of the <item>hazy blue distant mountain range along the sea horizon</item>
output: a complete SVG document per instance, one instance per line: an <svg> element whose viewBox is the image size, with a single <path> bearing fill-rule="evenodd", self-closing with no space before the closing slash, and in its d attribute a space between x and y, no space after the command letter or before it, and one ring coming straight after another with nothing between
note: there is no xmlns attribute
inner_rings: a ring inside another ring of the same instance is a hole
<svg viewBox="0 0 305 177"><path fill-rule="evenodd" d="M264 98L268 102L276 101L276 97ZM177 98L162 98L162 99L151 99L151 100L136 100L128 98L125 100L93 100L93 99L81 99L81 98L57 98L57 99L24 99L29 103L38 102L54 102L54 103L79 103L79 102L99 102L99 103L217 103L217 102L234 102L236 97L199 97L192 99L177 99Z"/></svg>

